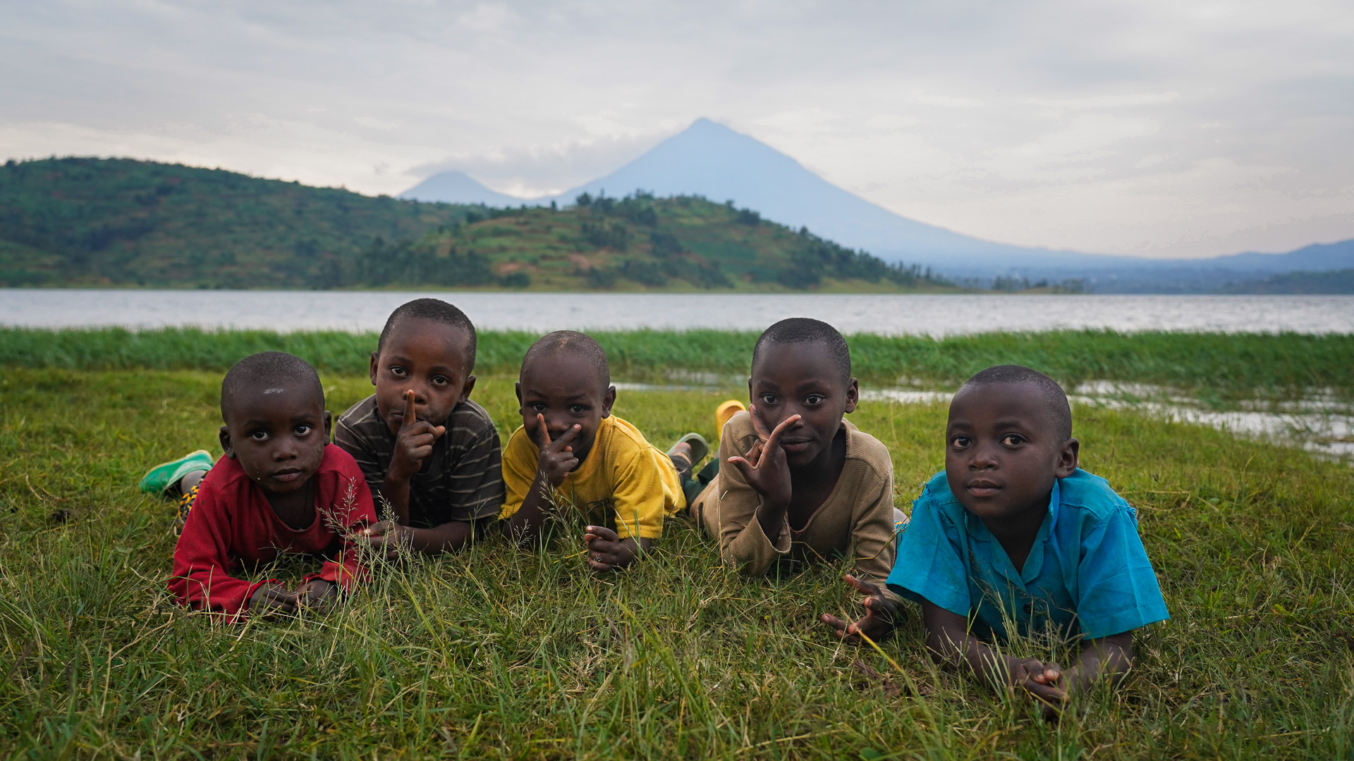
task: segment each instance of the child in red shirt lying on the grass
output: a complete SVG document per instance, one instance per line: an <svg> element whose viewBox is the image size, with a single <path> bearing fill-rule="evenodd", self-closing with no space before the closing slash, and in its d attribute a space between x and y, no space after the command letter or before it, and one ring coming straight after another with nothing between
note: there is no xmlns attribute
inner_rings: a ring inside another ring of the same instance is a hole
<svg viewBox="0 0 1354 761"><path fill-rule="evenodd" d="M305 360L263 352L221 383L221 448L198 487L173 551L169 590L180 603L240 622L248 615L328 608L367 575L349 536L376 521L352 455L329 444L320 376ZM232 575L282 552L325 557L288 590Z"/></svg>

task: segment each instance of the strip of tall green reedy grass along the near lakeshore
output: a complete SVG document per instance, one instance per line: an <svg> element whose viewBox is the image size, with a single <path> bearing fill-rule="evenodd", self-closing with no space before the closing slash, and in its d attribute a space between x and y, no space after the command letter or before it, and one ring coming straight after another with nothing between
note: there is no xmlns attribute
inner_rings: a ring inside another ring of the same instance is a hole
<svg viewBox="0 0 1354 761"><path fill-rule="evenodd" d="M712 374L716 383L742 385L756 333L728 330L630 330L593 333L617 376L662 380L673 371ZM475 370L482 376L516 375L539 336L482 332ZM1048 372L1064 385L1091 379L1170 385L1204 401L1288 398L1313 389L1354 397L1354 334L1300 333L1116 333L1055 330L925 336L852 336L852 362L861 382L953 389L991 364L1016 363ZM253 352L278 349L340 374L366 374L375 334L341 332L271 333L118 328L41 330L0 328L0 366L69 370L225 371Z"/></svg>

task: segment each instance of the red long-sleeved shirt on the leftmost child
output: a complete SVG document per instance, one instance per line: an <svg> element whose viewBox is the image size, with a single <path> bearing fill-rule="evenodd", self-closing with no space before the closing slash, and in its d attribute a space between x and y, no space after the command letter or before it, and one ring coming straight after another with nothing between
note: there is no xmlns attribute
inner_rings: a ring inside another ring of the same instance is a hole
<svg viewBox="0 0 1354 761"><path fill-rule="evenodd" d="M376 521L371 490L352 455L325 444L315 485L315 520L294 529L272 510L263 489L249 481L240 463L221 458L198 487L198 498L173 550L169 592L184 605L209 609L238 622L259 586L276 581L232 577L241 565L267 563L282 552L324 555L322 578L349 592L367 575L357 546L348 535Z"/></svg>

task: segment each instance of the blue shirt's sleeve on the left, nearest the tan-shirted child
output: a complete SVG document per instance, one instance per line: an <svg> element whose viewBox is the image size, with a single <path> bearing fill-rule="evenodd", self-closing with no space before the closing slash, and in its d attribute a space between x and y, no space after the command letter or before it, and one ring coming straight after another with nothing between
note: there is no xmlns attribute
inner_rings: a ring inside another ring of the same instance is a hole
<svg viewBox="0 0 1354 761"><path fill-rule="evenodd" d="M898 538L888 588L917 603L927 601L965 617L969 613L965 546L929 485L913 502L911 520Z"/></svg>

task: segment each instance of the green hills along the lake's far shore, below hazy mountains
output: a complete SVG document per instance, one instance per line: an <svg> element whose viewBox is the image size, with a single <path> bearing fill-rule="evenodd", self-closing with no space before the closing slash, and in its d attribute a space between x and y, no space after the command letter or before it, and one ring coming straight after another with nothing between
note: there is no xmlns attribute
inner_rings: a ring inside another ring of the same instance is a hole
<svg viewBox="0 0 1354 761"><path fill-rule="evenodd" d="M953 288L703 198L497 210L123 158L0 168L0 284Z"/></svg>

